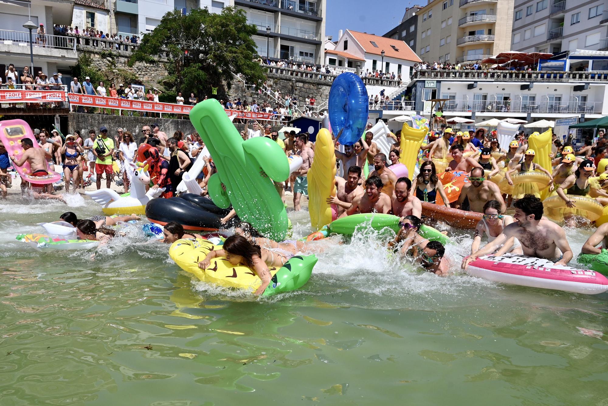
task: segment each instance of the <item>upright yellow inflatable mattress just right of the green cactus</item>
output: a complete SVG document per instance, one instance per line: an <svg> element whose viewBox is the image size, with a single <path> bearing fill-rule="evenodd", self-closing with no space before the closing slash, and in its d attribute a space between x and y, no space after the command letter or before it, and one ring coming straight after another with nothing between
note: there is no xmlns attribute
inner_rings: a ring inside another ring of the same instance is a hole
<svg viewBox="0 0 608 406"><path fill-rule="evenodd" d="M336 219L337 209L326 201L336 196L336 153L331 134L319 130L314 145L314 160L308 171L308 214L313 230Z"/></svg>

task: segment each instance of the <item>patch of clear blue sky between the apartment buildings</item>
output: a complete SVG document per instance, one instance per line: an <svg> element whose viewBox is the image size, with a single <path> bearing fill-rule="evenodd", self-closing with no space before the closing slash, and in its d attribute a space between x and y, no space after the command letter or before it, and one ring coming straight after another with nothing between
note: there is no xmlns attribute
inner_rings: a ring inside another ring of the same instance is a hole
<svg viewBox="0 0 608 406"><path fill-rule="evenodd" d="M424 5L426 0L327 0L325 35L338 39L339 30L355 30L384 35L395 27L406 12L406 7Z"/></svg>

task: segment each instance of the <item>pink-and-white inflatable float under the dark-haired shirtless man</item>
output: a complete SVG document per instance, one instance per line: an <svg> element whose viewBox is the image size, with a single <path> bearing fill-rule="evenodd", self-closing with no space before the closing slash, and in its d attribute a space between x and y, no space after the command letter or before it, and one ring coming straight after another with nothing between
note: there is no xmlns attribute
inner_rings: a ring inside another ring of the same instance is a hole
<svg viewBox="0 0 608 406"><path fill-rule="evenodd" d="M556 265L533 256L480 256L468 264L466 271L475 277L520 286L587 295L608 291L608 279L599 272Z"/></svg>

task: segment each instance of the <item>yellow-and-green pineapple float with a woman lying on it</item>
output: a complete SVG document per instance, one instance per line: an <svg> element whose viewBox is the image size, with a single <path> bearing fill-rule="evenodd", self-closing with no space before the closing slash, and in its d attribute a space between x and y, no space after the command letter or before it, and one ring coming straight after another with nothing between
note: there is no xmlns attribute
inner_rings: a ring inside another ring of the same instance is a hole
<svg viewBox="0 0 608 406"><path fill-rule="evenodd" d="M207 269L199 268L199 261L217 249L221 249L221 246L215 246L206 239L178 239L171 244L169 256L181 269L190 272L199 281L247 291L255 291L260 287L261 280L254 270L246 266L233 266L223 257L213 258ZM300 289L310 279L316 263L317 257L314 255L296 255L280 268L269 267L272 282L262 295L271 296Z"/></svg>

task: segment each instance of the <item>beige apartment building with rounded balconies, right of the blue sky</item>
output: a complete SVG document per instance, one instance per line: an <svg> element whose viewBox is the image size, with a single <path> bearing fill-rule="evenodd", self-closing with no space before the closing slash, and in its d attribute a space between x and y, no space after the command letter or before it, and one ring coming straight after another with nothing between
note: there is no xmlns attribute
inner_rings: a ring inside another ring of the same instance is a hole
<svg viewBox="0 0 608 406"><path fill-rule="evenodd" d="M429 0L416 12L424 61L472 62L511 49L514 0Z"/></svg>

